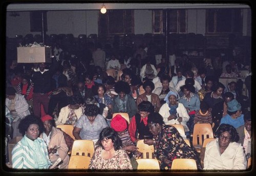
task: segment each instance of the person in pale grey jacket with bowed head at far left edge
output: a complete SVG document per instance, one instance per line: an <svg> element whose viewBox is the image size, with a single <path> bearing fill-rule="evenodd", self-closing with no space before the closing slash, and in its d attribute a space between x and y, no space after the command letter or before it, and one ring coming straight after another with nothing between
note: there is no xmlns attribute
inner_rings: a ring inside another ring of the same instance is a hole
<svg viewBox="0 0 256 176"><path fill-rule="evenodd" d="M5 105L7 106L13 117L12 138L15 138L16 136L22 136L22 134L20 134L18 131L18 125L20 120L24 119L25 116L30 115L28 102L23 95L16 94L13 87L8 87L6 89Z"/></svg>

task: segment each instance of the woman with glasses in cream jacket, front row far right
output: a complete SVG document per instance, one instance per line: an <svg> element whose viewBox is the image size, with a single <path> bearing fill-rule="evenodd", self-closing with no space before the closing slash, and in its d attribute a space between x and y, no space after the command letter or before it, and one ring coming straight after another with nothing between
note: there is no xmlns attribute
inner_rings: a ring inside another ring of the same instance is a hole
<svg viewBox="0 0 256 176"><path fill-rule="evenodd" d="M221 124L216 131L217 139L205 148L204 170L245 170L247 160L243 146L237 143L239 136L236 128Z"/></svg>

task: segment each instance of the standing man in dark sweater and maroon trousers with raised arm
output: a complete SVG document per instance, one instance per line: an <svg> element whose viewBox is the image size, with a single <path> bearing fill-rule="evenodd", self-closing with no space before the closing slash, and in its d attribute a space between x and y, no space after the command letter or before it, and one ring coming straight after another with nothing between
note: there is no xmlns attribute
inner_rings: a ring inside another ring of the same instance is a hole
<svg viewBox="0 0 256 176"><path fill-rule="evenodd" d="M39 63L39 71L32 75L32 82L34 83L33 90L33 110L34 115L41 117L41 104L44 106L45 113L48 113L49 94L52 91L52 76L58 67L58 61L52 57L52 65L50 69L45 69L46 63Z"/></svg>

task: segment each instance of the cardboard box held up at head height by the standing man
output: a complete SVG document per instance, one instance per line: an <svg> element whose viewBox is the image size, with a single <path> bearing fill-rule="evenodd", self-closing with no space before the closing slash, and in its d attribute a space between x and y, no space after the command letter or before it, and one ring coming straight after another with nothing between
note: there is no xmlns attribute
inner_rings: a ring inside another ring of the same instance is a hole
<svg viewBox="0 0 256 176"><path fill-rule="evenodd" d="M17 47L18 63L52 62L51 47Z"/></svg>

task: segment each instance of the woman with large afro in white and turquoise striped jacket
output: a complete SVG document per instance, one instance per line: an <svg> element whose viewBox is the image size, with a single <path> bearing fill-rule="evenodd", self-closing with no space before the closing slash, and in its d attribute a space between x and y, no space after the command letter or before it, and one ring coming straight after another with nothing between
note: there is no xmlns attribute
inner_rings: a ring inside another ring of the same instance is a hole
<svg viewBox="0 0 256 176"><path fill-rule="evenodd" d="M12 168L15 169L48 169L48 147L44 140L38 138L44 130L41 120L28 115L19 123L19 130L24 136L12 149Z"/></svg>

